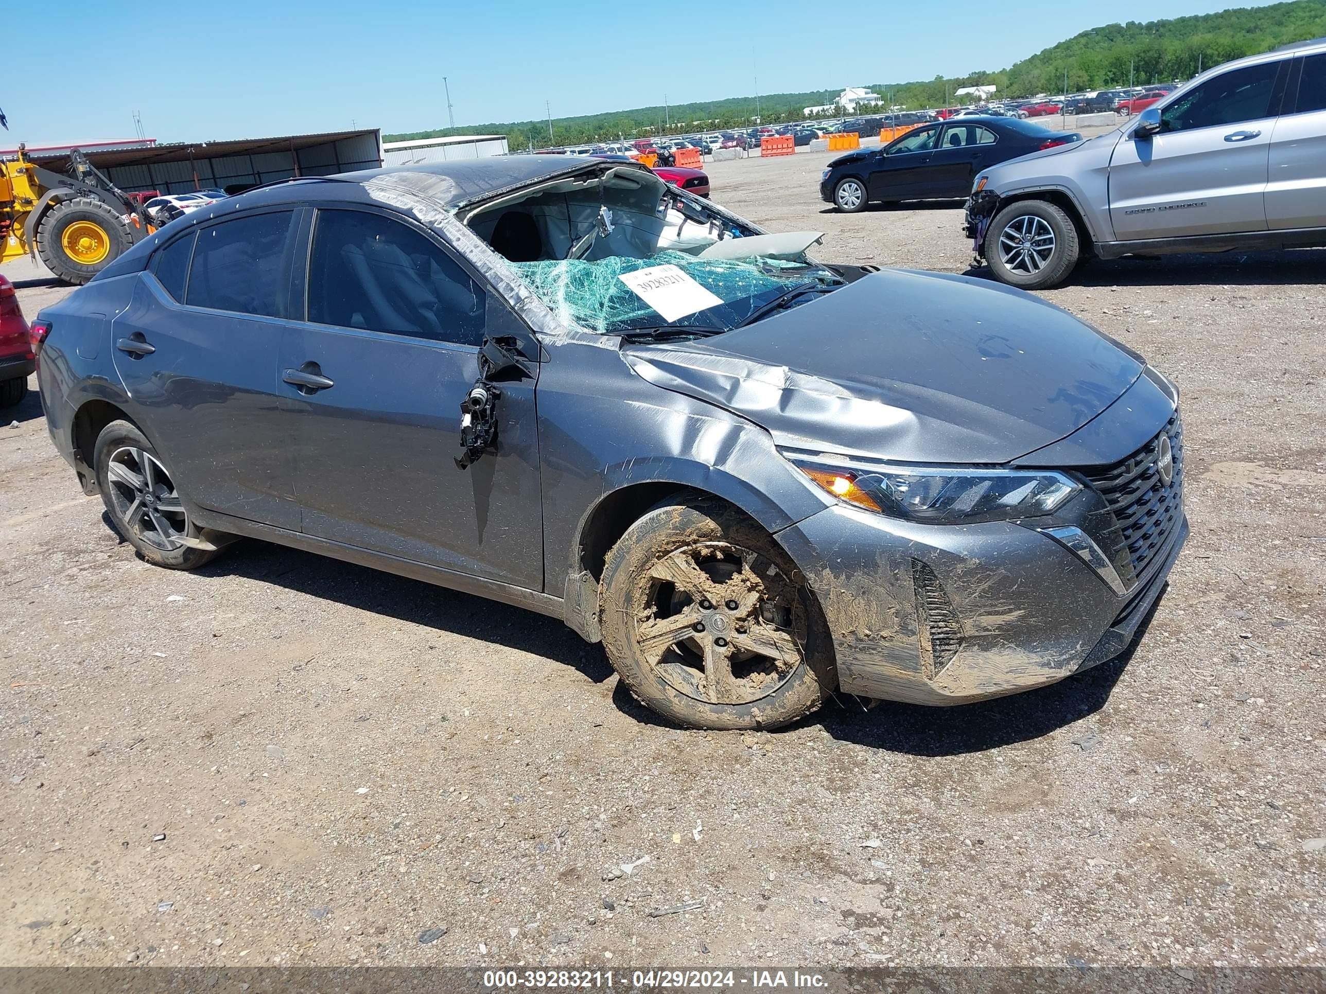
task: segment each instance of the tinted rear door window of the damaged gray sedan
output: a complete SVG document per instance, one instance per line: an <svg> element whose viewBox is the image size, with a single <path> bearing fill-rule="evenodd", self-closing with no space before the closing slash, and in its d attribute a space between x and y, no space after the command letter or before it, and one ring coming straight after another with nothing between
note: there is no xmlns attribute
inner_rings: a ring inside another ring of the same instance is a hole
<svg viewBox="0 0 1326 994"><path fill-rule="evenodd" d="M292 211L249 215L198 232L188 270L188 304L241 314L284 317L281 265Z"/></svg>

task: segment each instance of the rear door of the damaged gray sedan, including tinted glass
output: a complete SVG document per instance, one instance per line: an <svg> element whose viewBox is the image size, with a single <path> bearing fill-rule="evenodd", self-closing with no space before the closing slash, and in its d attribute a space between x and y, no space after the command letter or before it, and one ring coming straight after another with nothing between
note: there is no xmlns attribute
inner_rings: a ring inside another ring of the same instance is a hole
<svg viewBox="0 0 1326 994"><path fill-rule="evenodd" d="M195 504L298 530L277 410L296 211L255 211L158 249L114 318L115 371L133 415Z"/></svg>

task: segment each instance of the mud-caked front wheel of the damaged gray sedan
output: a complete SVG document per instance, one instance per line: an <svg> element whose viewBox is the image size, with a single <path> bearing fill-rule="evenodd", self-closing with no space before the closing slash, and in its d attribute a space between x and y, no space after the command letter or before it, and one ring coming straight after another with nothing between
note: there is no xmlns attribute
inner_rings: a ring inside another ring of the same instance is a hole
<svg viewBox="0 0 1326 994"><path fill-rule="evenodd" d="M786 553L740 512L660 505L607 554L603 648L646 705L690 728L777 728L835 687L819 606Z"/></svg>

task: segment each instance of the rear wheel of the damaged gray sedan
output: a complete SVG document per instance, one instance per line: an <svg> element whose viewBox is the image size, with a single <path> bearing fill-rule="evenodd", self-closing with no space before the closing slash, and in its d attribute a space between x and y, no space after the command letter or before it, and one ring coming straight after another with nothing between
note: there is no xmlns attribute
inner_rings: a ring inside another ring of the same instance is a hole
<svg viewBox="0 0 1326 994"><path fill-rule="evenodd" d="M102 428L93 465L106 513L143 559L167 570L195 570L216 557L216 549L188 545L200 533L171 472L137 425L111 421Z"/></svg>

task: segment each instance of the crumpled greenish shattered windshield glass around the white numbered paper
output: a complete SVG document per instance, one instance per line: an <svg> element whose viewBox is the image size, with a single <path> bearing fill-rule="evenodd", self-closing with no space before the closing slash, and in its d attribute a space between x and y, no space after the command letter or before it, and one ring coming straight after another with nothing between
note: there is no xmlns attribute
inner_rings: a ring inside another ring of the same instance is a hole
<svg viewBox="0 0 1326 994"><path fill-rule="evenodd" d="M656 310L646 300L647 293L640 296L622 280L623 276L655 266L676 266L716 301L695 294L696 304L708 306L680 317L662 304L655 306L664 306L668 313ZM827 270L808 262L761 257L697 258L675 250L658 252L646 258L609 256L594 261L564 258L513 262L512 268L561 321L598 334L625 334L660 326L725 331L793 288L806 284L815 288L833 286L841 282Z"/></svg>

